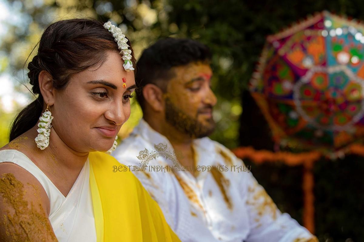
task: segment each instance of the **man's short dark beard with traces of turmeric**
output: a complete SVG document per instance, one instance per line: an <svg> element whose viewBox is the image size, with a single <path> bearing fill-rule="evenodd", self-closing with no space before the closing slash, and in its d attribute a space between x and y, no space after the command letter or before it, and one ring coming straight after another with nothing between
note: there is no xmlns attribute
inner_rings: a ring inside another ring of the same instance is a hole
<svg viewBox="0 0 364 242"><path fill-rule="evenodd" d="M195 118L189 116L177 106L175 106L169 98L165 99L166 101L166 121L175 127L178 131L189 135L193 139L203 138L212 134L215 130L215 121L213 118L210 118L207 121L206 125L203 125L198 121L197 116ZM211 106L209 108L212 109Z"/></svg>

